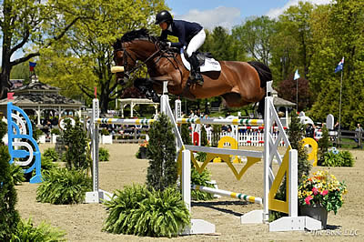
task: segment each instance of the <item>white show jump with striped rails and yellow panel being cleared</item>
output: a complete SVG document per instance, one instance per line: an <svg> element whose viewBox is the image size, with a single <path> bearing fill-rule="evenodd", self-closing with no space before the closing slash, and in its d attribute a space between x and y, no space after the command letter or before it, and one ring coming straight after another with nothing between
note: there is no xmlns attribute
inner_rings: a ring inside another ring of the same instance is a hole
<svg viewBox="0 0 364 242"><path fill-rule="evenodd" d="M177 100L178 101L178 100ZM177 151L181 154L181 187L182 187L182 197L187 205L187 208L191 207L191 151L202 151L210 154L222 154L222 155L234 155L234 156L248 156L254 159L260 159L263 157L264 164L264 196L259 197L248 197L245 195L238 196L234 193L217 189L220 195L237 197L239 199L245 198L248 201L253 201L261 203L263 205L262 210L255 210L248 212L241 217L241 223L268 223L269 210L280 211L288 214L288 217L281 217L269 223L269 231L291 231L291 230L304 230L305 228L309 230L321 229L321 223L310 217L298 217L298 153L297 150L293 150L290 147L288 137L285 134L284 127L280 123L278 114L273 106L272 97L266 97L265 105L265 119L252 119L252 121L247 121L246 119L182 119L179 118L180 113L180 101L176 102L175 116L169 106L169 100L167 96L167 82L164 84L164 92L161 96L161 112L166 113L170 118L174 133L177 139ZM179 110L179 112L178 112ZM98 124L103 122L101 118L98 118L98 100L93 101L93 116L91 117L90 129L92 134L92 157L94 161L94 172L93 172L93 182L94 182L94 192L89 193L89 195L94 196L94 202L99 202L101 197L104 196L104 191L98 189ZM117 120L117 121L116 121ZM106 123L111 122L112 124L127 123L126 119L107 119L104 121ZM228 121L227 121L228 120ZM239 121L244 120L244 121ZM136 121L134 121L136 122ZM237 149L225 149L225 148L213 148L213 147L203 147L203 146L184 146L182 138L178 131L177 123L190 123L196 122L197 124L221 124L221 125L238 125L239 122L245 122L250 126L260 126L264 125L264 152L258 151L245 151ZM276 128L273 128L274 123L278 126L278 137L273 138L273 132ZM136 123L133 123L136 124ZM278 153L278 146L280 140L283 139L285 146L287 146L286 155L281 158ZM207 154L208 155L208 154ZM272 169L272 162L274 157L278 160L278 172L275 175ZM257 161L249 161L246 166L251 166ZM275 195L278 191L278 187L283 180L283 177L287 177L287 197L286 201L280 201L275 199ZM196 187L197 188L197 187ZM199 189L206 189L207 187L198 187ZM209 188L213 189L213 188ZM212 190L210 190L212 192ZM217 193L218 194L218 193ZM92 197L91 196L91 197ZM215 226L207 221L201 219L192 219L192 227L185 229L185 234L206 234L215 233Z"/></svg>

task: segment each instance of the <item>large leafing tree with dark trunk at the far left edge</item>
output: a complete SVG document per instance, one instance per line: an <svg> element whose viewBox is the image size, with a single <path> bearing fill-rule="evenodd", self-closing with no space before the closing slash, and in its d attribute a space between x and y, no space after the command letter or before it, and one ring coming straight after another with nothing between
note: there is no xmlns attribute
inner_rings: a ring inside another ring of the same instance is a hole
<svg viewBox="0 0 364 242"><path fill-rule="evenodd" d="M0 11L2 32L2 62L0 73L0 98L5 98L14 66L40 55L61 40L69 28L80 19L93 13L93 0L4 0ZM25 50L16 57L15 53Z"/></svg>

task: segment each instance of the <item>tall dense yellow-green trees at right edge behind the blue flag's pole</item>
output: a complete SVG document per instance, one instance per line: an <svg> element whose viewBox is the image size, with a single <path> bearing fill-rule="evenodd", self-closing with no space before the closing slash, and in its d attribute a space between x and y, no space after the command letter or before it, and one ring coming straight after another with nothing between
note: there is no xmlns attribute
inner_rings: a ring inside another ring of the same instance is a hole
<svg viewBox="0 0 364 242"><path fill-rule="evenodd" d="M341 125L353 128L364 121L363 13L363 1L337 0L312 16L315 45L309 77L317 100L309 115L315 120L324 121L328 114L339 117L342 74ZM343 56L343 72L335 74Z"/></svg>

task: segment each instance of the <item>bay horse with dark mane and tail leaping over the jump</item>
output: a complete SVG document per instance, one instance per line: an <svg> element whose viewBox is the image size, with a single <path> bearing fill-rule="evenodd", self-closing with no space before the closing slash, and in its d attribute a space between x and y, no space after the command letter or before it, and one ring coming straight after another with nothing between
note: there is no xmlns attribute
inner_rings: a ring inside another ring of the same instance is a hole
<svg viewBox="0 0 364 242"><path fill-rule="evenodd" d="M159 45L156 36L147 29L134 30L116 40L114 61L124 66L116 72L116 81L123 83L139 67L147 66L150 79L136 79L134 85L143 92L153 88L161 94L163 82L168 81L168 93L188 99L222 96L228 107L246 106L259 102L258 113L264 116L266 83L272 79L268 66L260 62L219 61L221 71L203 72L201 86L189 80L179 51L173 52ZM137 64L136 61L141 62ZM117 68L116 68L117 69ZM119 68L120 69L120 68Z"/></svg>

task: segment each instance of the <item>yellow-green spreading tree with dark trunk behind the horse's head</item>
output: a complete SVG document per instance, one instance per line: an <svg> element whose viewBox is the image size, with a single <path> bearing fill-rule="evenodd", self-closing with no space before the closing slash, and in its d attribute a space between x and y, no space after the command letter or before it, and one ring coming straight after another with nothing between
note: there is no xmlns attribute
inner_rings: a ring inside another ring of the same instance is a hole
<svg viewBox="0 0 364 242"><path fill-rule="evenodd" d="M77 22L64 41L45 50L38 71L42 80L62 87L67 96L82 93L84 99L91 99L97 86L101 111L106 112L108 103L123 92L110 70L112 44L126 32L142 27L157 33L153 17L167 7L157 0L94 1L97 12L92 21Z"/></svg>

